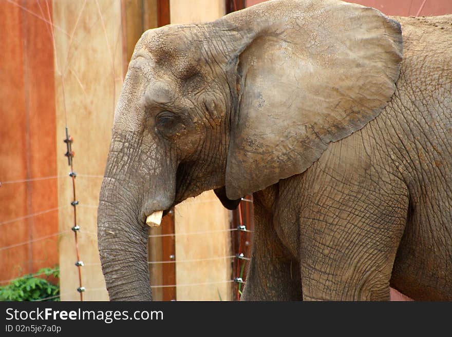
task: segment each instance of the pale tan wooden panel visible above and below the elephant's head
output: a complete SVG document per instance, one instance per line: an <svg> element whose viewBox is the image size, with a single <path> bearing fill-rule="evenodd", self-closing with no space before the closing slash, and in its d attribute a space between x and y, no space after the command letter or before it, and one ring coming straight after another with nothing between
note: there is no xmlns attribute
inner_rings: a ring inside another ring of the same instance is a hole
<svg viewBox="0 0 452 337"><path fill-rule="evenodd" d="M171 0L170 10L172 24L208 22L224 15L224 1ZM231 255L229 212L208 191L176 206L175 225L177 300L230 300L232 261L224 258ZM200 231L207 233L178 235Z"/></svg>

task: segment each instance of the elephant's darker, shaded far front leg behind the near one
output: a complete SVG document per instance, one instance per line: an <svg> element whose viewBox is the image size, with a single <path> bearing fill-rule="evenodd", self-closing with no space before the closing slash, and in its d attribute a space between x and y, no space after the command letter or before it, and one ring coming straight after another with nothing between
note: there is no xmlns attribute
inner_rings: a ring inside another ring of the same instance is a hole
<svg viewBox="0 0 452 337"><path fill-rule="evenodd" d="M254 199L253 249L243 301L300 301L299 262L279 240L272 215Z"/></svg>

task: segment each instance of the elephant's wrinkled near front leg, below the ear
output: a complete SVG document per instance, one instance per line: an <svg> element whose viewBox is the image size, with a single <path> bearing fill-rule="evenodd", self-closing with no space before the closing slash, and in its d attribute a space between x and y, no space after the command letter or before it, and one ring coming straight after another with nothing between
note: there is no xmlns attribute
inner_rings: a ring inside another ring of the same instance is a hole
<svg viewBox="0 0 452 337"><path fill-rule="evenodd" d="M370 180L359 175L336 178L332 172L317 171L314 180L303 184L303 299L387 301L406 225L406 187L384 175Z"/></svg>

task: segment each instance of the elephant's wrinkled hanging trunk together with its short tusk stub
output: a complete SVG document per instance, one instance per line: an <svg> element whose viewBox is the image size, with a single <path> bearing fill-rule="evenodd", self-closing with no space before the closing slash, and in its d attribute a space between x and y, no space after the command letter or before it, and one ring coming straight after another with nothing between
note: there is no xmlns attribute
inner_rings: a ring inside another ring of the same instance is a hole
<svg viewBox="0 0 452 337"><path fill-rule="evenodd" d="M171 161L164 151L143 145L136 132L112 137L98 208L99 253L112 301L152 300L148 226L160 223L175 193L175 168L165 165Z"/></svg>

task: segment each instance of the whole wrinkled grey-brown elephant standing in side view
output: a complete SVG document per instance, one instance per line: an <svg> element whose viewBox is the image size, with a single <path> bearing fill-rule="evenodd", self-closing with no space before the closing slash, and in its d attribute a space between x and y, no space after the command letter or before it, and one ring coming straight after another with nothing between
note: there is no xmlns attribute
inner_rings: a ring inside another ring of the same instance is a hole
<svg viewBox="0 0 452 337"><path fill-rule="evenodd" d="M99 198L110 300L152 300L146 223L211 189L254 197L242 300L452 300L451 40L452 15L338 0L144 32Z"/></svg>

